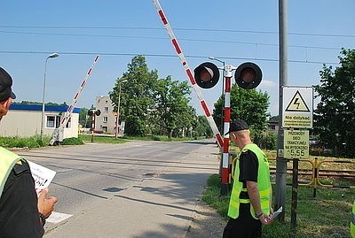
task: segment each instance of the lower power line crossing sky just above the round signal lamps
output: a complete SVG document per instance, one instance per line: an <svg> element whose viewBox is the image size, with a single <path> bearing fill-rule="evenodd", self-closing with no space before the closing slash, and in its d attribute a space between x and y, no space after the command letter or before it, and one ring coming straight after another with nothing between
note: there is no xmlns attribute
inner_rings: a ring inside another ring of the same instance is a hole
<svg viewBox="0 0 355 238"><path fill-rule="evenodd" d="M13 51L13 50L0 50L0 54L51 54L50 51ZM176 55L170 54L142 54L142 53L107 53L107 52L60 52L60 55L100 55L100 56L144 56L144 57L160 57L160 58L177 58ZM209 56L194 56L194 55L185 55L186 58L201 58L206 59ZM269 61L269 62L279 62L279 59L274 58L238 58L238 57L217 57L220 59L229 59L229 60L255 60L255 61ZM304 63L304 64L317 64L317 65L338 65L337 62L321 62L321 61L308 61L308 60L288 60L289 63Z"/></svg>

